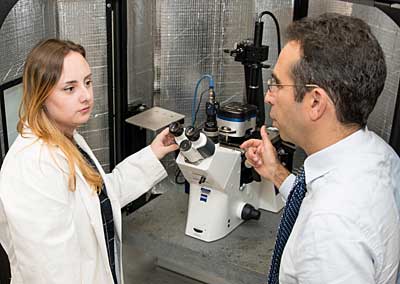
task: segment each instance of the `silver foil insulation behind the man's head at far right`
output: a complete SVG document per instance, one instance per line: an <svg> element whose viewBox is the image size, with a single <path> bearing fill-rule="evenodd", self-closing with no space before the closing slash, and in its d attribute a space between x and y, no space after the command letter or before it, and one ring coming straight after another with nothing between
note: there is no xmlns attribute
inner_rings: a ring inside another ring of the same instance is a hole
<svg viewBox="0 0 400 284"><path fill-rule="evenodd" d="M309 15L335 12L355 16L368 23L386 56L385 88L368 120L368 128L389 141L400 79L400 28L381 10L342 1L310 0Z"/></svg>

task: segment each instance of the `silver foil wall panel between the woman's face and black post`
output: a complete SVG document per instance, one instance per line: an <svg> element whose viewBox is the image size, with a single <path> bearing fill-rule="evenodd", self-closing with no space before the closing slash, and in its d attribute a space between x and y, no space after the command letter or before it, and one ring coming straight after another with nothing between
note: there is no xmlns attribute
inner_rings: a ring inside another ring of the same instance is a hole
<svg viewBox="0 0 400 284"><path fill-rule="evenodd" d="M93 74L94 108L79 132L91 146L103 168L110 168L107 97L107 33L104 0L57 1L60 38L80 43Z"/></svg>

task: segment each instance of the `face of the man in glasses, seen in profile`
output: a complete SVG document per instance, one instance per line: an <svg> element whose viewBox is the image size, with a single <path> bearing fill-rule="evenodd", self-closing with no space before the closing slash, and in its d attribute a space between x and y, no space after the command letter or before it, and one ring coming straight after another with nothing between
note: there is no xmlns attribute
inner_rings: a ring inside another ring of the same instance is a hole
<svg viewBox="0 0 400 284"><path fill-rule="evenodd" d="M283 140L297 144L302 132L302 103L294 99L295 83L291 77L292 66L300 60L300 45L288 42L282 49L272 72L276 86L271 86L265 95L265 103L271 105L272 125L279 129ZM281 85L279 85L281 84Z"/></svg>

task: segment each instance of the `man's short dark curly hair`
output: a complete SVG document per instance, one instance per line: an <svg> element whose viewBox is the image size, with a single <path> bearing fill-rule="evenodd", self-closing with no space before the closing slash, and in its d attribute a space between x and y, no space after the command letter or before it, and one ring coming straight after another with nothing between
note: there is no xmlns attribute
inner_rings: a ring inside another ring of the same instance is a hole
<svg viewBox="0 0 400 284"><path fill-rule="evenodd" d="M307 91L302 86L316 84L328 92L340 122L364 127L386 79L385 56L369 26L327 13L293 22L287 36L302 52L292 68L296 101Z"/></svg>

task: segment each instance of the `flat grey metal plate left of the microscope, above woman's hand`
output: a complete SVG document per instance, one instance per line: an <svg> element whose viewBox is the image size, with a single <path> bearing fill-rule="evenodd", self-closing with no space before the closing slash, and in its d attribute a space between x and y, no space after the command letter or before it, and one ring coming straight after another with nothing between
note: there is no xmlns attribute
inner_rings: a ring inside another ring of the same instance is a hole
<svg viewBox="0 0 400 284"><path fill-rule="evenodd" d="M185 118L183 114L160 107L152 107L127 118L125 121L142 128L157 131L183 118Z"/></svg>

